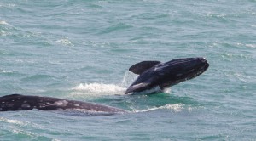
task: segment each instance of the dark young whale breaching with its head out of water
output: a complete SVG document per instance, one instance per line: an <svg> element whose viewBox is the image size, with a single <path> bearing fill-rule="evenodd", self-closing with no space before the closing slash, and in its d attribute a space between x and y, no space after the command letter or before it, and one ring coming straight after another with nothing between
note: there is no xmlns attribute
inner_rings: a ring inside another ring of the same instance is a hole
<svg viewBox="0 0 256 141"><path fill-rule="evenodd" d="M146 90L150 89L163 91L167 87L201 75L208 67L207 59L204 58L172 59L166 63L143 61L130 67L129 71L139 76L125 94L147 93Z"/></svg>

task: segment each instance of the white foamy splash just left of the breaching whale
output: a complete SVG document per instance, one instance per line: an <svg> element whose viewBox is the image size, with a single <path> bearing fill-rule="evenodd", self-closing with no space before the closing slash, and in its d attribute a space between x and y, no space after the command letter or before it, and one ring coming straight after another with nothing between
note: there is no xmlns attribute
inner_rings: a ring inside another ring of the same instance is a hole
<svg viewBox="0 0 256 141"><path fill-rule="evenodd" d="M80 83L78 86L73 87L73 90L79 91L82 93L79 94L96 94L96 95L110 95L110 94L118 94L124 93L125 87L120 87L114 84L103 84L103 83Z"/></svg>

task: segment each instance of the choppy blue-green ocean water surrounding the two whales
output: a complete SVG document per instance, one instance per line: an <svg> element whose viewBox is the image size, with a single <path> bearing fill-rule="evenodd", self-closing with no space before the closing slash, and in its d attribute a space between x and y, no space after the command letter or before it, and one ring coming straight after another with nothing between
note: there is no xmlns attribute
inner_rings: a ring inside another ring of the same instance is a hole
<svg viewBox="0 0 256 141"><path fill-rule="evenodd" d="M1 0L0 96L107 104L128 114L0 113L0 140L256 140L255 0ZM143 60L205 57L201 76L125 95Z"/></svg>

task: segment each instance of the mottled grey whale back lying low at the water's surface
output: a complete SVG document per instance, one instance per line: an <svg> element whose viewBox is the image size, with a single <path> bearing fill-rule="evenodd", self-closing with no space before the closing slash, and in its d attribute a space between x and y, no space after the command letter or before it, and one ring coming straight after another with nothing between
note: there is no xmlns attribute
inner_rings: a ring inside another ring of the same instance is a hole
<svg viewBox="0 0 256 141"><path fill-rule="evenodd" d="M125 113L107 105L87 103L75 100L11 94L0 97L0 111L9 110L86 110L93 112Z"/></svg>

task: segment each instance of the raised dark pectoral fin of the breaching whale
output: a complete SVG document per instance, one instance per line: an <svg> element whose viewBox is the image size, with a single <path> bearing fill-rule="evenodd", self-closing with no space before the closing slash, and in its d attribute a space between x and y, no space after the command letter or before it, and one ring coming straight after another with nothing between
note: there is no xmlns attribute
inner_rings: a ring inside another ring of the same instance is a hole
<svg viewBox="0 0 256 141"><path fill-rule="evenodd" d="M143 62L137 63L135 65L132 65L129 68L129 71L131 71L137 75L140 75L144 71L146 71L146 70L150 69L151 67L153 67L154 65L158 65L158 64L160 64L160 61L143 61Z"/></svg>

